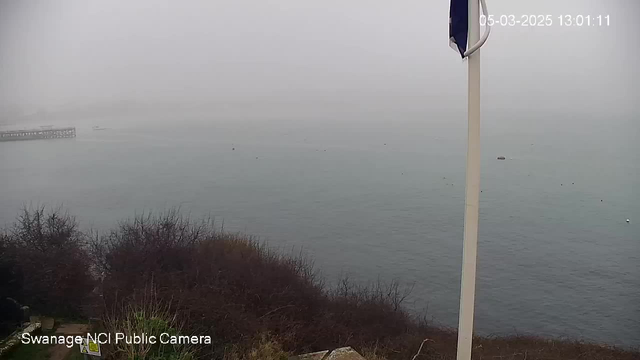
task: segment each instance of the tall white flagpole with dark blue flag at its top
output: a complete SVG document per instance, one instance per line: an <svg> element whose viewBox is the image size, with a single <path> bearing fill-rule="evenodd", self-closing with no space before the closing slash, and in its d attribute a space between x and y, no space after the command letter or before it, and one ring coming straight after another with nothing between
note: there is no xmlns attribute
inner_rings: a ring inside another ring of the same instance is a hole
<svg viewBox="0 0 640 360"><path fill-rule="evenodd" d="M469 0L469 39L480 39L479 0ZM469 134L467 144L467 180L460 286L457 360L471 359L473 307L476 291L476 254L478 251L478 203L480 198L480 49L468 57L469 63Z"/></svg>

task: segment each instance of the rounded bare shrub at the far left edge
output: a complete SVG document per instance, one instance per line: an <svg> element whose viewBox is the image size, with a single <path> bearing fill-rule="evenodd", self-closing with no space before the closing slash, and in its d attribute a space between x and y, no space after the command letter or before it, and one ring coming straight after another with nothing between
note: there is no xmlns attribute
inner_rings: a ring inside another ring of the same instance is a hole
<svg viewBox="0 0 640 360"><path fill-rule="evenodd" d="M3 236L19 274L19 300L42 313L77 315L94 282L75 218L61 208L25 207Z"/></svg>

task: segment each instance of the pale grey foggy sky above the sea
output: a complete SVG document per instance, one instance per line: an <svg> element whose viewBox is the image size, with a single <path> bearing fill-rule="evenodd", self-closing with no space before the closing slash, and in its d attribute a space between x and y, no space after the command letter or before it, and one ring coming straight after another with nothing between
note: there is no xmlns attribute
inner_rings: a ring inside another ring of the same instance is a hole
<svg viewBox="0 0 640 360"><path fill-rule="evenodd" d="M484 108L638 114L637 0L487 3L496 17L550 14L554 25L494 26ZM464 108L448 12L447 0L0 0L0 107ZM560 14L610 15L611 26L561 28Z"/></svg>

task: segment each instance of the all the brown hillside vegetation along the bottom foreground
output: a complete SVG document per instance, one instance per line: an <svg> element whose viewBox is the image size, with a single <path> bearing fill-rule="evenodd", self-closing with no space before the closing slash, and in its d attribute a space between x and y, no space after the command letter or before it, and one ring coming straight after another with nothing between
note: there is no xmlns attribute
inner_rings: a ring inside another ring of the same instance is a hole
<svg viewBox="0 0 640 360"><path fill-rule="evenodd" d="M107 347L113 359L269 360L341 346L369 360L455 359L454 331L403 308L409 288L348 279L326 286L310 259L175 210L123 221L98 236L80 232L60 209L25 209L0 235L0 255L4 299L36 312L98 317L109 331L212 338L207 345ZM15 324L3 316L5 328ZM571 340L478 337L474 359L631 360L640 353Z"/></svg>

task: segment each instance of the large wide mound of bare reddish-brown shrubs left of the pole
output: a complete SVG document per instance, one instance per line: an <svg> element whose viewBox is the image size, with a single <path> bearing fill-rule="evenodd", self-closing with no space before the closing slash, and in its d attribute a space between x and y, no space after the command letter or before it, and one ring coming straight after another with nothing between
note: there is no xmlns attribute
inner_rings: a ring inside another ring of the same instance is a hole
<svg viewBox="0 0 640 360"><path fill-rule="evenodd" d="M303 256L282 255L175 210L123 222L92 249L107 304L153 282L190 332L218 341L198 349L201 355L220 358L229 344L248 351L264 333L284 350L301 352L386 341L412 326L401 308L408 292L397 282L345 281L325 291Z"/></svg>

